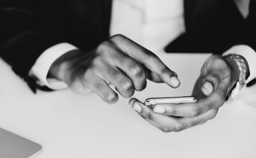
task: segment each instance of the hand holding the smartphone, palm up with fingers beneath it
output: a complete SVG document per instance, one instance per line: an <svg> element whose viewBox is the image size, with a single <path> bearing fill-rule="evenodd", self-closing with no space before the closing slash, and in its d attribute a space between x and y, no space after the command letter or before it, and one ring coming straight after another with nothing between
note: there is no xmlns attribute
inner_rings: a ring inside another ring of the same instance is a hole
<svg viewBox="0 0 256 158"><path fill-rule="evenodd" d="M150 108L131 99L130 104L142 118L160 130L181 131L214 118L225 103L229 89L236 83L239 73L232 59L212 55L205 61L193 89L192 95L198 98L197 103L158 104Z"/></svg>

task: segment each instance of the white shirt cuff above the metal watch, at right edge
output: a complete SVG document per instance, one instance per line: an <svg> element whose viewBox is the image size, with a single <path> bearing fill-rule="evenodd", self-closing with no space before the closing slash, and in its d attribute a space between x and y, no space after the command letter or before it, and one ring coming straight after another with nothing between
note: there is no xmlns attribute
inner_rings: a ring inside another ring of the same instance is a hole
<svg viewBox="0 0 256 158"><path fill-rule="evenodd" d="M236 45L227 50L223 55L228 54L238 54L246 59L250 76L247 78L246 83L249 83L251 80L256 78L256 52L247 45Z"/></svg>

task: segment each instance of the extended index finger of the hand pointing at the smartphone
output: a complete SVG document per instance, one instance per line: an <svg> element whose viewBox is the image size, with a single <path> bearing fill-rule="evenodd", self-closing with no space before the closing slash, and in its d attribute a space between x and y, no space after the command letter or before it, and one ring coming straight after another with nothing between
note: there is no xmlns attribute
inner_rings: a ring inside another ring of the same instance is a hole
<svg viewBox="0 0 256 158"><path fill-rule="evenodd" d="M174 71L170 70L154 53L123 35L115 35L111 39L115 45L131 58L142 63L150 71L159 75L163 82L173 88L180 86Z"/></svg>

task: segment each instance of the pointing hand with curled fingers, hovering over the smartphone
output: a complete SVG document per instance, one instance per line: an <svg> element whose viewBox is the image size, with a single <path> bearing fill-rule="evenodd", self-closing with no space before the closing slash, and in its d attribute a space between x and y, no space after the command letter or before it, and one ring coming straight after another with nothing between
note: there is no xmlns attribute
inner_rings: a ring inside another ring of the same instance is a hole
<svg viewBox="0 0 256 158"><path fill-rule="evenodd" d="M51 66L49 75L64 81L76 93L89 89L109 104L118 100L109 84L123 97L142 91L146 79L173 88L180 85L176 73L154 53L122 35L110 37L90 53L72 50L62 55Z"/></svg>

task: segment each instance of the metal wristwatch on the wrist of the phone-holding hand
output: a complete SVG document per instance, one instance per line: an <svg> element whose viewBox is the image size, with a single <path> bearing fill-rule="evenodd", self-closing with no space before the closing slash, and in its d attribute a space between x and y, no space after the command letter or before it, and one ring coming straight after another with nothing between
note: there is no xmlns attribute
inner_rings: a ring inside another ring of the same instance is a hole
<svg viewBox="0 0 256 158"><path fill-rule="evenodd" d="M229 99L234 100L246 87L246 60L241 55L237 54L229 54L225 57L233 59L233 61L237 63L238 69L240 70L240 75L237 80L236 86L232 89L232 92L229 95Z"/></svg>

